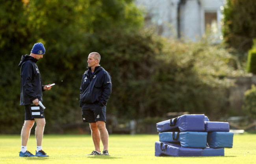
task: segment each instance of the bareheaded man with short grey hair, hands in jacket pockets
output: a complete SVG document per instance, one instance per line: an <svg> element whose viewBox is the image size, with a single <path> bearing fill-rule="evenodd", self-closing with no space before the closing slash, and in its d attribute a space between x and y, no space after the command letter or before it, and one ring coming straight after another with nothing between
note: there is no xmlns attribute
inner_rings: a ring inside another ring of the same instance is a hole
<svg viewBox="0 0 256 164"><path fill-rule="evenodd" d="M99 65L100 54L88 56L88 70L82 75L80 86L80 107L83 122L89 122L95 150L88 155L109 155L108 131L106 129L106 105L112 92L109 73ZM103 151L100 152L100 140Z"/></svg>

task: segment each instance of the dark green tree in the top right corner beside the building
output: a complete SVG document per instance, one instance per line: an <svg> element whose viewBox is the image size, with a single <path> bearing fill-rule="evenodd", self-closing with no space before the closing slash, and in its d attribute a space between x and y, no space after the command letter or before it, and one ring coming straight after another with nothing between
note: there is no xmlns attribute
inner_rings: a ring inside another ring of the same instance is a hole
<svg viewBox="0 0 256 164"><path fill-rule="evenodd" d="M250 49L256 37L255 9L255 0L226 0L223 35L229 46L243 52Z"/></svg>

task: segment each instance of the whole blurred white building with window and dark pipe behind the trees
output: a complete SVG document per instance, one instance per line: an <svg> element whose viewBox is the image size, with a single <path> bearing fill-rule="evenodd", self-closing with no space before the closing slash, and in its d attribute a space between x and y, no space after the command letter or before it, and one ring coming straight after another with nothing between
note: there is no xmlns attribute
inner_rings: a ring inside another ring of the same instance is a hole
<svg viewBox="0 0 256 164"><path fill-rule="evenodd" d="M220 42L224 0L135 0L145 9L146 26L156 26L158 34L196 41L208 30Z"/></svg>

